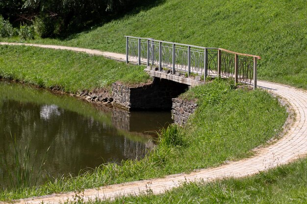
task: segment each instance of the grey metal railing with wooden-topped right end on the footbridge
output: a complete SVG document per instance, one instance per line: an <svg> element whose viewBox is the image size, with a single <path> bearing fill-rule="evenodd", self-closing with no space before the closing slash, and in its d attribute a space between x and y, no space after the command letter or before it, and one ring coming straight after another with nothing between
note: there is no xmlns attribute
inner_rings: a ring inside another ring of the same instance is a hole
<svg viewBox="0 0 307 204"><path fill-rule="evenodd" d="M234 78L235 83L257 86L256 55L242 54L223 48L201 47L154 40L152 38L126 37L126 62L138 65L156 65L158 70L176 71L212 77Z"/></svg>

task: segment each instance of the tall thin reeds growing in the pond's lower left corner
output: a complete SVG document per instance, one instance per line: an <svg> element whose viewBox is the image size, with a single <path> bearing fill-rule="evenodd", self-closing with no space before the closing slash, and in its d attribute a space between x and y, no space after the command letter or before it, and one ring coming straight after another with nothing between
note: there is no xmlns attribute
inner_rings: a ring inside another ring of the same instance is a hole
<svg viewBox="0 0 307 204"><path fill-rule="evenodd" d="M17 142L16 136L13 137L11 135L10 148L13 150L13 155L10 155L10 158L7 158L5 157L4 152L0 154L0 161L2 164L1 168L3 169L3 180L9 180L10 183L10 187L8 186L8 188L18 191L22 188L35 186L38 179L41 177L50 147L47 149L41 160L37 173L33 177L37 151L35 151L35 153L31 152L29 145L30 144L23 147L21 142Z"/></svg>

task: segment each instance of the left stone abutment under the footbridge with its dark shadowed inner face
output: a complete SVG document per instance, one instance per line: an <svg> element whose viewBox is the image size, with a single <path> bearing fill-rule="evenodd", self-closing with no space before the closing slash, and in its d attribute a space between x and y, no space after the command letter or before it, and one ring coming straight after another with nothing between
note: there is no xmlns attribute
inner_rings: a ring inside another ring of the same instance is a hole
<svg viewBox="0 0 307 204"><path fill-rule="evenodd" d="M139 87L128 87L117 82L112 84L112 98L114 105L129 110L171 110L172 98L187 89L188 85L159 78Z"/></svg>

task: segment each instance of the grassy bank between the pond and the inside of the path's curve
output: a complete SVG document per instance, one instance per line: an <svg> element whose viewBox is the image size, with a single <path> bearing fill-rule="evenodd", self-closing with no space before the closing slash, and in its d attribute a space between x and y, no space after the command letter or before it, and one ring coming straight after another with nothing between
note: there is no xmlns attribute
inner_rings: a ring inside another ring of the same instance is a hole
<svg viewBox="0 0 307 204"><path fill-rule="evenodd" d="M287 116L285 108L267 92L235 90L223 80L191 89L187 95L182 97L199 97L200 106L188 126L164 130L157 148L144 159L102 165L38 188L0 192L0 200L163 177L249 157L251 149L278 136Z"/></svg>

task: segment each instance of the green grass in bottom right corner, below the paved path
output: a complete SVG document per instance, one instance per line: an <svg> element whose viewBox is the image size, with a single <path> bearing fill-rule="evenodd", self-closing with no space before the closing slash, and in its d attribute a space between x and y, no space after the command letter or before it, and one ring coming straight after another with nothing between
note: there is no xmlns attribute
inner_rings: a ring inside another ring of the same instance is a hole
<svg viewBox="0 0 307 204"><path fill-rule="evenodd" d="M148 190L137 197L88 204L306 204L306 171L307 159L300 159L248 178L182 183L161 195Z"/></svg>

